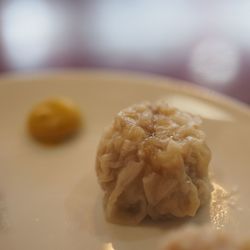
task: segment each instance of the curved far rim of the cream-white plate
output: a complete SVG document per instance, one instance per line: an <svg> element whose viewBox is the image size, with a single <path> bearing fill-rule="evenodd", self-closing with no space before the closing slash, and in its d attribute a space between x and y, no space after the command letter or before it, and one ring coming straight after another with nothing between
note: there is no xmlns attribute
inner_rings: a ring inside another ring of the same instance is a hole
<svg viewBox="0 0 250 250"><path fill-rule="evenodd" d="M250 118L250 105L241 100L228 96L226 94L211 90L208 87L196 85L195 83L169 77L160 74L137 72L129 70L112 70L112 69L57 69L32 72L7 72L0 75L1 85L14 84L17 81L41 80L46 78L62 78L62 77L93 77L100 79L128 79L128 81L137 81L136 84L158 86L161 88L172 89L176 92L180 91L184 94L193 95L199 99L205 99L212 103L223 105L229 109L235 109ZM22 84L22 83L20 83Z"/></svg>

